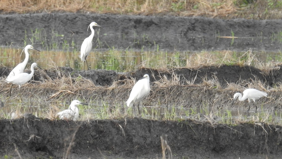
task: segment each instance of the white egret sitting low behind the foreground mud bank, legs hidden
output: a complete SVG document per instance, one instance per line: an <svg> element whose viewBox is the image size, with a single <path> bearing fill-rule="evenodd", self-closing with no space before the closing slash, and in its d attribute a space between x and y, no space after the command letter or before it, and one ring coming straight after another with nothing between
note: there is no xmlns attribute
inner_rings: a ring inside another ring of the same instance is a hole
<svg viewBox="0 0 282 159"><path fill-rule="evenodd" d="M78 100L74 100L70 103L69 109L63 110L59 113L57 113L57 115L59 116L60 119L68 119L68 120L73 120L76 121L79 117L79 110L76 107L76 105L87 105L86 103L81 103Z"/></svg>

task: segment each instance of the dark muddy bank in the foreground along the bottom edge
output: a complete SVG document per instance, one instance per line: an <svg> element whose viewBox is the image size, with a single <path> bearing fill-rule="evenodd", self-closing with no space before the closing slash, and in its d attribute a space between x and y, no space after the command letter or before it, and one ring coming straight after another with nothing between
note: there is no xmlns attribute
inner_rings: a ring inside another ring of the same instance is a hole
<svg viewBox="0 0 282 159"><path fill-rule="evenodd" d="M3 156L17 156L15 143L24 158L62 158L72 143L70 158L161 158L161 136L173 158L252 159L282 155L281 126L273 125L211 126L190 120L145 119L73 123L34 116L0 123Z"/></svg>

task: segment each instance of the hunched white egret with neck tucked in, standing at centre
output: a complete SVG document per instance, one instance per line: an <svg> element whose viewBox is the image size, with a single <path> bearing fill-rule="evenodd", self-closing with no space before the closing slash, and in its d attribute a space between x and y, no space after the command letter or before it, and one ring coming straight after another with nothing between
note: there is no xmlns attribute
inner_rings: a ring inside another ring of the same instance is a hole
<svg viewBox="0 0 282 159"><path fill-rule="evenodd" d="M150 92L150 79L149 75L144 75L142 79L138 80L136 84L133 86L129 98L127 100L127 107L133 106L134 113L135 112L135 103L138 102L138 114L139 112L139 104L144 96L148 96Z"/></svg>

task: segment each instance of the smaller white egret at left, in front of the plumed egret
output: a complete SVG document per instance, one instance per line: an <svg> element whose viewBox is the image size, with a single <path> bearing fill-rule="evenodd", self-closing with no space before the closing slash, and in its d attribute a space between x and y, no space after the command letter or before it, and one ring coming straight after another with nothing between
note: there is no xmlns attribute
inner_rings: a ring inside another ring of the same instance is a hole
<svg viewBox="0 0 282 159"><path fill-rule="evenodd" d="M30 67L31 73L30 74L28 74L28 73L19 73L17 75L14 75L14 76L10 77L9 79L6 79L7 82L8 83L12 83L12 85L14 85L14 84L19 85L19 89L20 89L21 85L27 83L32 78L32 76L34 74L34 67L36 67L36 66L37 66L36 63L31 64L31 67ZM12 86L10 88L10 95L9 96L11 96L11 89L12 89Z"/></svg>

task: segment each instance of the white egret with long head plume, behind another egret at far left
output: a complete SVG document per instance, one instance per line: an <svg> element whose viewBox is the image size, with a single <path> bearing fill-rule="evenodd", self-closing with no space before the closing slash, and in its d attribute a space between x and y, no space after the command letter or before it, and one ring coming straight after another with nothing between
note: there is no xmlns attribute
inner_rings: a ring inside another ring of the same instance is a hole
<svg viewBox="0 0 282 159"><path fill-rule="evenodd" d="M27 65L27 61L28 61L28 58L29 58L29 54L28 54L28 49L34 49L34 50L37 50L35 49L34 47L32 47L31 45L27 45L25 47L25 60L22 62L22 63L19 63L11 72L10 74L8 75L8 77L6 78L7 82L8 82L8 79L10 77L13 77L14 75L17 75L19 73L23 73L23 70L25 69L25 66ZM37 50L39 51L39 50ZM40 51L39 51L40 52ZM9 82L8 82L9 83Z"/></svg>

